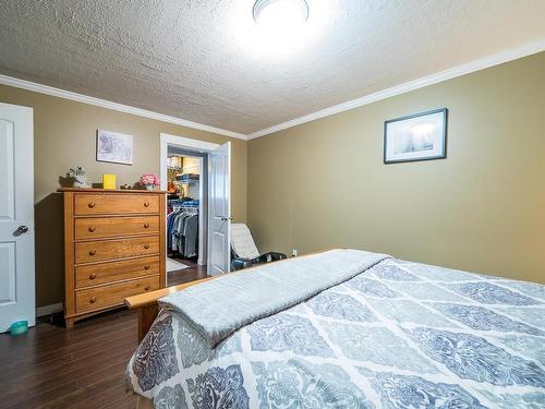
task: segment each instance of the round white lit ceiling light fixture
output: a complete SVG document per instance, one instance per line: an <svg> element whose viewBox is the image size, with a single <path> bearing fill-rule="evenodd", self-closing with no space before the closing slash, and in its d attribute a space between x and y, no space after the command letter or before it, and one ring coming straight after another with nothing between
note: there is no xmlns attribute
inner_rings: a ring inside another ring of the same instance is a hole
<svg viewBox="0 0 545 409"><path fill-rule="evenodd" d="M295 26L308 20L308 4L305 0L257 0L253 15L261 25Z"/></svg>

